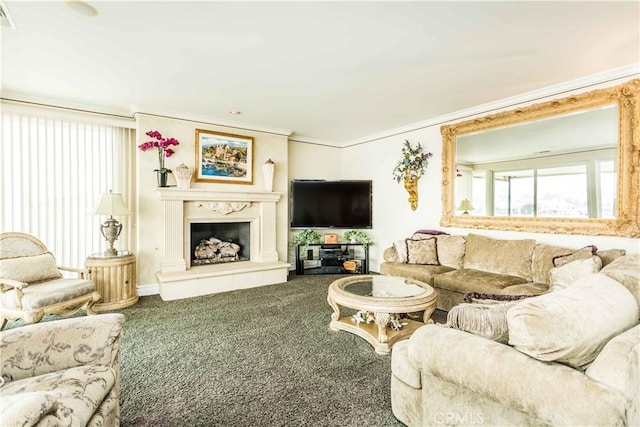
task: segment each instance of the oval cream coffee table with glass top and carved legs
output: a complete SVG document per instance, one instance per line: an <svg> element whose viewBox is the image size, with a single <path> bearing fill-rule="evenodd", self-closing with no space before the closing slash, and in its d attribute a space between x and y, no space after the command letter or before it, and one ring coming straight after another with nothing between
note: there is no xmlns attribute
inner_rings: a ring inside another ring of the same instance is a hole
<svg viewBox="0 0 640 427"><path fill-rule="evenodd" d="M425 323L432 323L437 293L426 283L394 276L350 276L338 279L329 286L327 302L333 308L329 327L347 331L367 340L376 353L386 354L396 342L409 338ZM372 323L356 322L353 316L341 316L340 307L365 311ZM399 330L389 328L392 314L423 311L422 322L401 319Z"/></svg>

